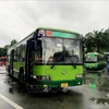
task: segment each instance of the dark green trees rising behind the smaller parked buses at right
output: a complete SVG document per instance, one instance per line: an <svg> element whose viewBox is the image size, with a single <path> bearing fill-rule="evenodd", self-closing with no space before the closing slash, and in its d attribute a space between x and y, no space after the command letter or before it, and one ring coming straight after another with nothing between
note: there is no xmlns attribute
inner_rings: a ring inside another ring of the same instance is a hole
<svg viewBox="0 0 109 109"><path fill-rule="evenodd" d="M85 35L86 52L97 51L105 52L109 51L109 28L100 32L94 31L93 33L87 33Z"/></svg>

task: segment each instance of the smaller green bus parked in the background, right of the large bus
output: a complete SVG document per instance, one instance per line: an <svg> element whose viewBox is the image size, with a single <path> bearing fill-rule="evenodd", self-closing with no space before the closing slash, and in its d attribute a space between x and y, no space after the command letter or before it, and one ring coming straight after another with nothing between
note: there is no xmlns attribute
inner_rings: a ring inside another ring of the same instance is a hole
<svg viewBox="0 0 109 109"><path fill-rule="evenodd" d="M105 56L98 52L85 53L86 70L102 70L106 66Z"/></svg>

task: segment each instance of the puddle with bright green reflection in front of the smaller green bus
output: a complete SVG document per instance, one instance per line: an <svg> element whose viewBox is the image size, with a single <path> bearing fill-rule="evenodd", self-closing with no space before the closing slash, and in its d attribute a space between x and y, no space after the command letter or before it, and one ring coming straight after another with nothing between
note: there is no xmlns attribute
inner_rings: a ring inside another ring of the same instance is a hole
<svg viewBox="0 0 109 109"><path fill-rule="evenodd" d="M101 92L109 92L109 73L102 71L85 72L84 84Z"/></svg>

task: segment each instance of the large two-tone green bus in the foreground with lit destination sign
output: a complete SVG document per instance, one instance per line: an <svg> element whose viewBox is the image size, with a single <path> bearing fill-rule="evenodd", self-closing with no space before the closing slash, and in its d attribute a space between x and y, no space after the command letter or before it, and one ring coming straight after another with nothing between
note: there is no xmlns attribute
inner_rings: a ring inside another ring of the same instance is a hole
<svg viewBox="0 0 109 109"><path fill-rule="evenodd" d="M70 31L38 27L8 49L7 70L21 82L43 88L82 85L82 37Z"/></svg>

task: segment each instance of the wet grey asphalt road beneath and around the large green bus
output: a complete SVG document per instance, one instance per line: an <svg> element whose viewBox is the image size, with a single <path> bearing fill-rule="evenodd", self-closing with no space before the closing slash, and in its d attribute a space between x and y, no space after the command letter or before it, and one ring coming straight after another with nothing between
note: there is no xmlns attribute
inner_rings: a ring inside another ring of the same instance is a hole
<svg viewBox="0 0 109 109"><path fill-rule="evenodd" d="M109 109L108 82L106 74L86 73L85 84L70 92L31 94L0 68L0 109Z"/></svg>

